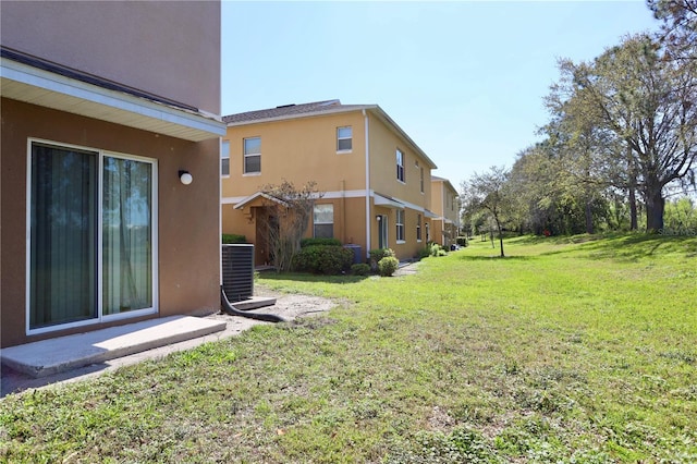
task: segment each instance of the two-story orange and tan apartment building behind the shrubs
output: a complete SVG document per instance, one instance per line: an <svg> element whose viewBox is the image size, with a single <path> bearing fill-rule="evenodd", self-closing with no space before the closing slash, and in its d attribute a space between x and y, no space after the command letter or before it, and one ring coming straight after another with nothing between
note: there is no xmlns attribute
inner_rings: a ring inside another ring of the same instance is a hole
<svg viewBox="0 0 697 464"><path fill-rule="evenodd" d="M222 229L256 245L256 264L272 261L265 245L262 190L283 180L316 182L307 236L360 247L390 247L400 259L418 255L436 216L433 161L377 105L339 100L223 117Z"/></svg>

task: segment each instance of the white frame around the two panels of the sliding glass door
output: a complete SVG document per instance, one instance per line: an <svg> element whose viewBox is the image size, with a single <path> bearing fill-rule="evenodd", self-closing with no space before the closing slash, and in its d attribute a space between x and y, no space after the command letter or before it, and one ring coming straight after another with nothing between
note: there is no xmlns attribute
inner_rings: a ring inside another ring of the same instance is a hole
<svg viewBox="0 0 697 464"><path fill-rule="evenodd" d="M46 326L46 327L39 327L36 329L32 329L30 328L30 280L32 280L32 146L33 144L44 144L44 145L51 145L54 146L56 148L65 148L65 149L75 149L75 150L81 150L81 151L90 151L94 152L95 156L97 157L97 170L98 170L98 175L97 175L97 224L98 227L96 228L96 233L97 233L97 253L96 253L96 285L97 285L97 292L95 295L96 298L96 306L97 306L97 316L90 319L86 319L86 320L78 320L78 321L74 321L74 322L65 322L65 323L57 323L57 325L52 325L52 326ZM102 202L103 202L103 159L105 157L110 157L110 158L119 158L119 159L130 159L130 160L135 160L135 161L140 161L140 162L147 162L150 164L151 167L151 187L152 187L152 205L151 205L151 225L152 225L152 230L151 230L151 236L150 236L150 243L152 244L151 247L151 258L152 258L152 268L151 268L151 274L152 274L152 306L149 308L143 308L143 309L135 309L135 310L130 310L126 313L118 313L118 314L111 314L111 315L105 315L102 312L102 306L103 306L103 270L102 270L102 230L101 230L101 225L102 225L102 221L103 221L103 211L102 211ZM86 146L81 146L81 145L74 145L74 144L65 144L62 142L54 142L54 141L47 141L47 139L41 139L41 138L27 138L27 156L26 156L26 160L27 160L27 169L26 169L26 251L25 251L25 259L26 259L26 264L25 264L25 333L27 335L34 335L34 334L39 334L39 333L48 333L48 332L54 332L54 331L59 331L59 330L65 330L65 329L71 329L71 328L75 328L75 327L83 327L83 326L93 326L93 325L97 325L97 323L102 323L102 322L109 322L109 321L113 321L113 320L120 320L120 319L132 319L132 318L136 318L136 317L142 317L142 316L146 316L146 315L151 315L151 314L157 314L159 313L159 273L158 273L158 262L159 262L159 257L158 257L158 251L159 251L159 242L158 242L158 237L159 237L159 228L158 228L158 160L155 158L146 158L146 157L142 157L142 156L136 156L136 155L127 155L127 154L120 154L120 152L115 152L115 151L109 151L109 150L103 150L103 149L99 149L99 148L94 148L94 147L86 147Z"/></svg>

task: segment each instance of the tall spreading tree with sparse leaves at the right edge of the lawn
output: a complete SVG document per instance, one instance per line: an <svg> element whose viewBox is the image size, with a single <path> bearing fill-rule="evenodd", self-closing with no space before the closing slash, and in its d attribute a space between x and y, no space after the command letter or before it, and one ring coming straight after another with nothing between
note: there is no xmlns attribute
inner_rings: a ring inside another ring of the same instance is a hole
<svg viewBox="0 0 697 464"><path fill-rule="evenodd" d="M626 38L590 63L563 61L575 93L627 147L644 196L647 231L663 228L663 190L695 183L697 61L667 57L648 35Z"/></svg>

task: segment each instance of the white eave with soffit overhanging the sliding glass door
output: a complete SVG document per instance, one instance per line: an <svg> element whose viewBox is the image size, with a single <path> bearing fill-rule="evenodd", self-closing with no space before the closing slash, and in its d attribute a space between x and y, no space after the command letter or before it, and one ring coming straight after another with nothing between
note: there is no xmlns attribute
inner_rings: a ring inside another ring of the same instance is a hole
<svg viewBox="0 0 697 464"><path fill-rule="evenodd" d="M7 58L0 59L3 97L192 142L225 135L217 117L110 90ZM35 89L45 91L37 93Z"/></svg>

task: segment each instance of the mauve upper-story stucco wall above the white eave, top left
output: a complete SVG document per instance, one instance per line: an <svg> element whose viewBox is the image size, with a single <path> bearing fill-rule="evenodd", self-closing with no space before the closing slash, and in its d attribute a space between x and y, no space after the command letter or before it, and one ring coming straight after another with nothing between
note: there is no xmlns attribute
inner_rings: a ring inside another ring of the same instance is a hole
<svg viewBox="0 0 697 464"><path fill-rule="evenodd" d="M220 113L218 1L0 2L1 42Z"/></svg>

